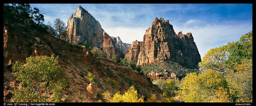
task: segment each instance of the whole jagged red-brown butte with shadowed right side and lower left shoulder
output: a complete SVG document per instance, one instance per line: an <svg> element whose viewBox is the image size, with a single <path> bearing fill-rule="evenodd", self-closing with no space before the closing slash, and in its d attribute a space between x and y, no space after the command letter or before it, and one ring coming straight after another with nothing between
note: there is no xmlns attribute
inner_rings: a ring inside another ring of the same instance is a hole
<svg viewBox="0 0 256 106"><path fill-rule="evenodd" d="M201 61L192 34L189 32L185 35L179 32L177 35L169 20L163 18L156 17L146 30L140 43L139 53L137 53L139 45L136 43L134 45L136 46L131 46L126 52L126 57L128 60L134 59L140 65L165 59L178 62L184 67L196 68Z"/></svg>

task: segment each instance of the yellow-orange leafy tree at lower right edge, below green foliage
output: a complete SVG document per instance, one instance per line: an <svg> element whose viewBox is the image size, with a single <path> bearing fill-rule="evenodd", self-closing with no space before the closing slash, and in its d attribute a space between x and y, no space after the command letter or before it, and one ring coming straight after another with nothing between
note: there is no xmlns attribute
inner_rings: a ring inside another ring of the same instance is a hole
<svg viewBox="0 0 256 106"><path fill-rule="evenodd" d="M229 70L231 74L225 76L229 94L234 97L235 102L252 102L252 59L245 59L242 64L235 64L233 67L238 71Z"/></svg>

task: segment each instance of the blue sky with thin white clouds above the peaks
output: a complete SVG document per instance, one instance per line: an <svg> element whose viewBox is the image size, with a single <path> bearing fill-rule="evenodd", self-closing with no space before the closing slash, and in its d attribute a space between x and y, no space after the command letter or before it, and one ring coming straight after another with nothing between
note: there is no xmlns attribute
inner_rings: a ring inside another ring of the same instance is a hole
<svg viewBox="0 0 256 106"><path fill-rule="evenodd" d="M252 4L30 4L47 21L67 20L81 5L109 36L124 43L142 41L155 17L173 25L176 34L191 32L201 58L211 48L237 41L252 30Z"/></svg>

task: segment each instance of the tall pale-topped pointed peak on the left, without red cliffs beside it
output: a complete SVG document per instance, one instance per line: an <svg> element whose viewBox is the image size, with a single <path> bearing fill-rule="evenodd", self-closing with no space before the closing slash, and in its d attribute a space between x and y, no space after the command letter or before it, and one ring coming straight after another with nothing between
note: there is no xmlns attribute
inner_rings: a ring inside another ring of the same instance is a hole
<svg viewBox="0 0 256 106"><path fill-rule="evenodd" d="M103 29L100 23L81 6L77 7L67 21L67 34L73 36L78 44L87 40L89 45L103 47Z"/></svg>

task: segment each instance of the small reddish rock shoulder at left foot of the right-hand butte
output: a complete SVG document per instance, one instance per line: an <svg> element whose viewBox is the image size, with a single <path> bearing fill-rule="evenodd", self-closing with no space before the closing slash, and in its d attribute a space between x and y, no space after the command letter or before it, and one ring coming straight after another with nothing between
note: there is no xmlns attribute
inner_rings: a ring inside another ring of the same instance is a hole
<svg viewBox="0 0 256 106"><path fill-rule="evenodd" d="M140 45L142 42L139 42L137 40L132 42L132 45L130 46L129 50L126 51L125 58L131 61L137 61L138 56L140 53Z"/></svg>

